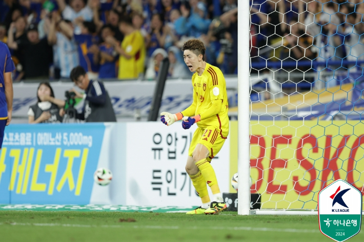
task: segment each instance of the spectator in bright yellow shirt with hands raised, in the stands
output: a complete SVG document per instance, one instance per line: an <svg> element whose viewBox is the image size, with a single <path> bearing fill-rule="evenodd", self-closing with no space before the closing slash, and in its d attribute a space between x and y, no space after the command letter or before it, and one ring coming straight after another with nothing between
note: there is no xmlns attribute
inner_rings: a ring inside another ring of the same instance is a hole
<svg viewBox="0 0 364 242"><path fill-rule="evenodd" d="M120 56L118 78L138 78L144 74L146 56L144 37L133 27L128 17L120 20L119 29L125 36L121 46L115 38L110 36L106 38L106 42L114 46Z"/></svg>

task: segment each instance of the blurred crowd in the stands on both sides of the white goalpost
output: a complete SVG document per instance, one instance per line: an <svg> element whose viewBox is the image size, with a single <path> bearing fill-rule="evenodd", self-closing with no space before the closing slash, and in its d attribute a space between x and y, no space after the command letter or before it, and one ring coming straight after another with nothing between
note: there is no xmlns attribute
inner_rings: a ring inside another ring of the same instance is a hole
<svg viewBox="0 0 364 242"><path fill-rule="evenodd" d="M225 74L237 74L237 3L0 0L0 41L12 51L15 82L69 79L77 65L91 78L154 79L165 57L170 60L168 77L189 78L180 47L196 37L207 47L207 62ZM326 73L358 68L364 60L361 0L250 0L250 4L253 74L282 67L293 82L312 83L318 79L314 73L323 69ZM340 60L345 65L335 63ZM302 72L312 75L302 78Z"/></svg>

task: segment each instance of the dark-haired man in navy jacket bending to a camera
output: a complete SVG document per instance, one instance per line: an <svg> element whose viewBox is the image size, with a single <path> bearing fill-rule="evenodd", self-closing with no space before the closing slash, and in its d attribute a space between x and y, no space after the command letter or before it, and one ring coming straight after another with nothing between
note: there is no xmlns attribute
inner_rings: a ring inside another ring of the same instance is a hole
<svg viewBox="0 0 364 242"><path fill-rule="evenodd" d="M72 69L70 78L77 87L85 90L85 94L75 89L70 90L70 93L74 92L74 98L83 98L85 101L82 113L75 113L77 119L86 122L116 122L114 109L103 83L90 80L81 66Z"/></svg>

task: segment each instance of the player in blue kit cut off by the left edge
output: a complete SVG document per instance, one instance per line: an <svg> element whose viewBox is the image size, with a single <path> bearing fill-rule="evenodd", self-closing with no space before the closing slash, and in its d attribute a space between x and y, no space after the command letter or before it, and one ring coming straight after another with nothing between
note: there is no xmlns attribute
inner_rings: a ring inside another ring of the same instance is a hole
<svg viewBox="0 0 364 242"><path fill-rule="evenodd" d="M5 126L10 124L13 110L13 81L11 72L15 70L9 48L0 42L0 148L3 144Z"/></svg>

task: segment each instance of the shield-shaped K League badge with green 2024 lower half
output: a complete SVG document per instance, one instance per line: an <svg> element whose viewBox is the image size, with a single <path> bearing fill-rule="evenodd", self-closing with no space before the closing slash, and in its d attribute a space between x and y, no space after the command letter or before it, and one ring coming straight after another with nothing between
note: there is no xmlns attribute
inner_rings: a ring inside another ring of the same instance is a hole
<svg viewBox="0 0 364 242"><path fill-rule="evenodd" d="M322 234L335 241L347 240L360 231L362 194L339 179L318 193L318 221Z"/></svg>

